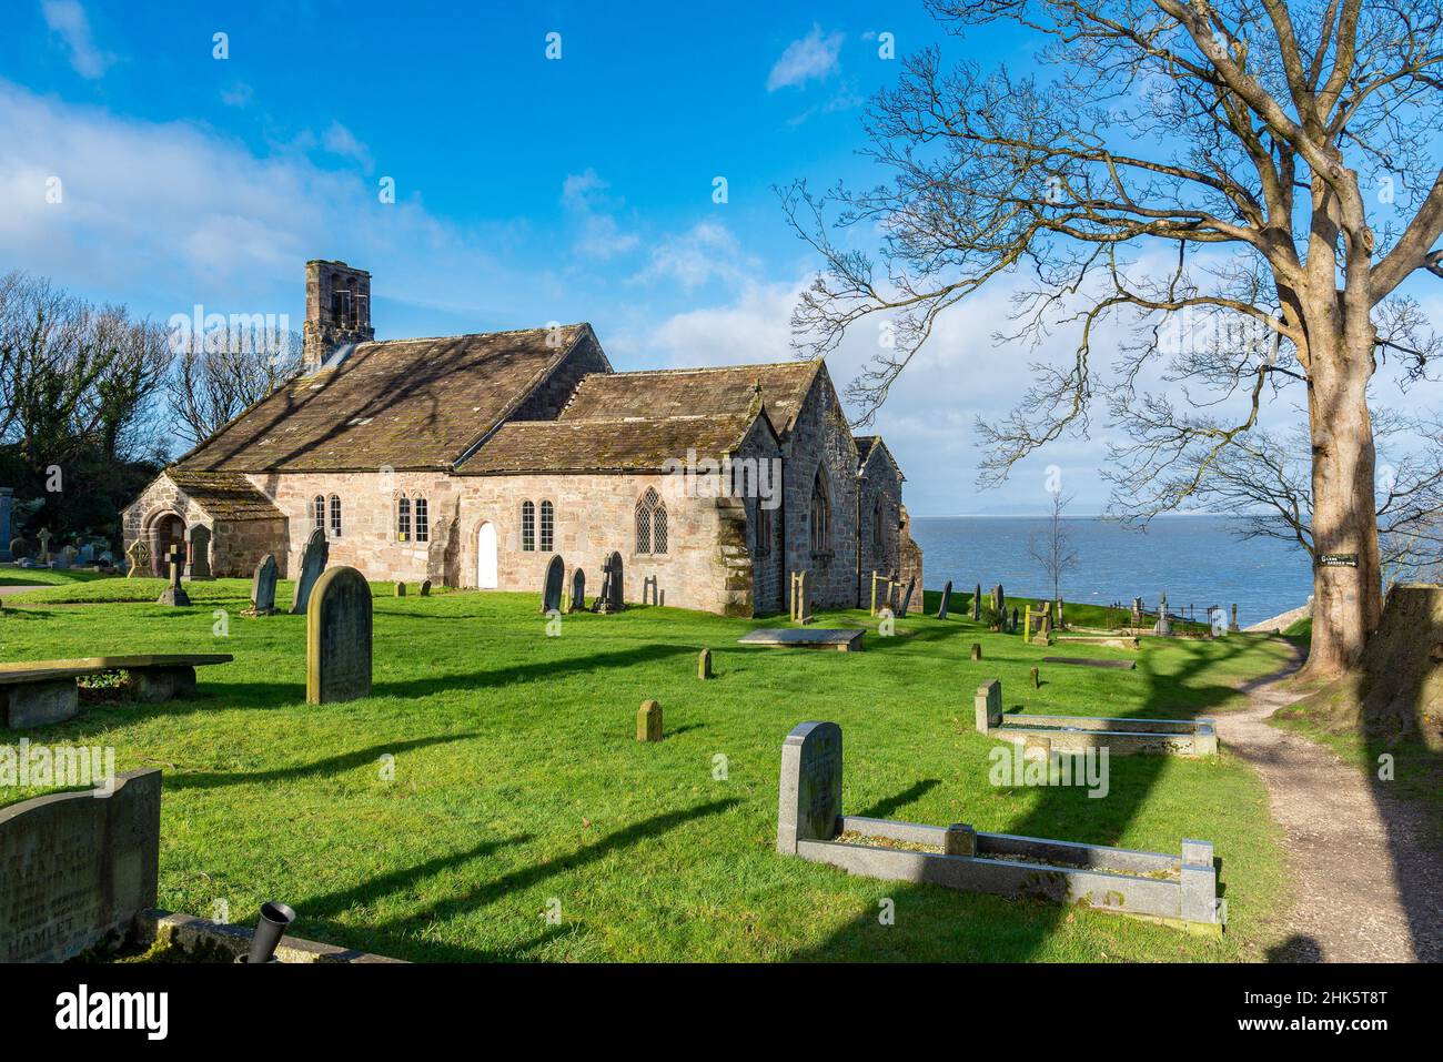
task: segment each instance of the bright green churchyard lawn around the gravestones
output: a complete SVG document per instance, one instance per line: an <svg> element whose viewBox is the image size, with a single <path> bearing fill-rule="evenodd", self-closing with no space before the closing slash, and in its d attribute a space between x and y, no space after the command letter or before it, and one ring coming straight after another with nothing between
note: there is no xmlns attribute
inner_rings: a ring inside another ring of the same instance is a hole
<svg viewBox="0 0 1443 1062"><path fill-rule="evenodd" d="M860 654L745 649L753 626L678 609L577 615L545 636L531 594L397 599L375 587L375 691L304 703L304 618L245 619L248 580L97 580L7 599L0 659L111 652L235 654L193 700L92 706L10 739L111 745L120 769L162 766L160 903L251 921L286 900L302 936L408 960L1261 960L1281 859L1257 776L1216 760L1115 758L1111 789L994 788L973 694L1009 710L1186 717L1276 670L1263 636L1149 644L1136 671L1040 665L1020 638L928 612ZM280 600L289 602L289 583ZM89 600L89 605L66 603ZM127 600L128 599L128 600ZM228 636L216 636L224 609ZM1069 606L1069 619L1087 613ZM824 625L870 623L866 612ZM968 651L981 642L984 658ZM697 680L697 651L717 677ZM1056 649L1052 649L1056 652ZM667 740L633 739L645 698ZM1211 840L1229 906L1222 939L1040 902L848 877L776 854L782 739L834 720L844 808L919 822L1177 851ZM394 758L394 781L382 778ZM724 758L726 772L716 776ZM36 795L6 791L0 802ZM896 905L880 925L879 902ZM560 922L548 923L558 903Z"/></svg>

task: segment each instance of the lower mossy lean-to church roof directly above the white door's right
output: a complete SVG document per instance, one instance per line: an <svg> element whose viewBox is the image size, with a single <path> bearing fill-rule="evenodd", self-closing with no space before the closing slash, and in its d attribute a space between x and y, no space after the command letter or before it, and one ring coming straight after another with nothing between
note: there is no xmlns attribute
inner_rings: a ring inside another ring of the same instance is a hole
<svg viewBox="0 0 1443 1062"><path fill-rule="evenodd" d="M687 460L688 450L697 459L736 453L755 421L756 414L512 420L457 470L661 472L668 460Z"/></svg>

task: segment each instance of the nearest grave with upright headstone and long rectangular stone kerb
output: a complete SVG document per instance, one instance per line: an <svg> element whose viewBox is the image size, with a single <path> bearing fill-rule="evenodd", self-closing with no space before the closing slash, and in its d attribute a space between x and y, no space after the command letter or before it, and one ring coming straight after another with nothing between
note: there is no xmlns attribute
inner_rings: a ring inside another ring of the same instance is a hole
<svg viewBox="0 0 1443 1062"><path fill-rule="evenodd" d="M1195 932L1222 932L1225 908L1218 899L1218 872L1208 841L1183 840L1180 854L1172 856L986 834L964 824L941 827L846 815L841 779L841 727L799 723L782 743L779 853L864 877L1085 903ZM924 844L938 851L837 840L843 834Z"/></svg>

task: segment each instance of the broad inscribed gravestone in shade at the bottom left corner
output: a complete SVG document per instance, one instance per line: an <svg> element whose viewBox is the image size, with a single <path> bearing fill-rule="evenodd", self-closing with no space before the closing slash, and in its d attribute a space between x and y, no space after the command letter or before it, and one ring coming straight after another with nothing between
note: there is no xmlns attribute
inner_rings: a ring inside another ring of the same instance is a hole
<svg viewBox="0 0 1443 1062"><path fill-rule="evenodd" d="M156 906L160 772L0 808L0 962L62 962Z"/></svg>

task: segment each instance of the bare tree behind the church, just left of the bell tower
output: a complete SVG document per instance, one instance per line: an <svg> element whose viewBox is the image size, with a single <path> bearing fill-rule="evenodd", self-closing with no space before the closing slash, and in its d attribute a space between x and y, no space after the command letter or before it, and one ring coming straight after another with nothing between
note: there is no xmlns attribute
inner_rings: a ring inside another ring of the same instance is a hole
<svg viewBox="0 0 1443 1062"><path fill-rule="evenodd" d="M192 446L209 439L300 369L294 332L268 333L237 322L203 335L182 336L176 368L166 384L180 434Z"/></svg>

